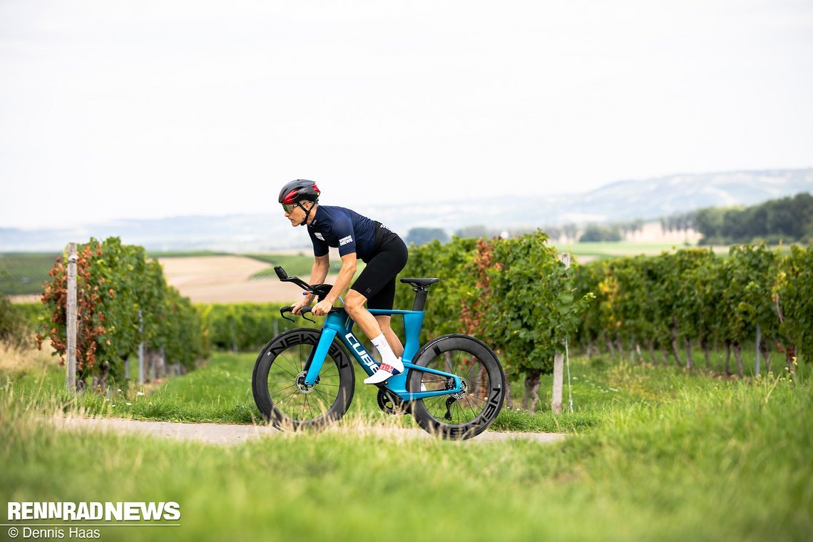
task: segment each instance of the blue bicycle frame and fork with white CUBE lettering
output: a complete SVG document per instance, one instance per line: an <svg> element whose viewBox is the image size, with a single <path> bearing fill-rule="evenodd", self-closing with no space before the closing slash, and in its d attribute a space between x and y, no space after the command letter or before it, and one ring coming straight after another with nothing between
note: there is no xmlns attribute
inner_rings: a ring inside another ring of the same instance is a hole
<svg viewBox="0 0 813 542"><path fill-rule="evenodd" d="M423 310L384 310L384 309L371 309L373 315L376 314L402 314L404 317L404 330L406 334L406 344L404 345L404 353L402 362L404 363L404 371L400 375L395 375L387 381L387 388L393 393L401 397L403 401L412 401L414 399L425 399L427 397L438 397L441 395L450 395L452 393L459 393L463 391L463 386L460 383L460 378L451 373L443 371L435 371L428 367L421 367L412 364L415 354L420 349L420 328L424 323ZM350 319L350 314L347 314L344 309L333 309L328 313L327 318L322 326L322 335L320 336L319 344L311 353L311 359L306 366L307 375L305 376L305 384L312 386L316 382L316 378L322 371L324 358L328 354L330 345L333 344L333 339L336 337L346 346L347 350L353 354L353 357L359 362L364 372L367 375L372 375L376 372L378 364L372 358L361 341L353 334L354 321ZM436 390L433 392L415 392L410 393L406 391L406 379L408 378L409 371L424 371L439 375L446 378L454 379L453 389Z"/></svg>

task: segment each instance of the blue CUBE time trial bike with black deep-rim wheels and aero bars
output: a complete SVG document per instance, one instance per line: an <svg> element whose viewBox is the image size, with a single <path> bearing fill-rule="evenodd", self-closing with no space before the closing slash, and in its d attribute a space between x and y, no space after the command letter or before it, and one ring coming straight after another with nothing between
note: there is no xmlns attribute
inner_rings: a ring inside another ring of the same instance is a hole
<svg viewBox="0 0 813 542"><path fill-rule="evenodd" d="M297 284L320 301L331 284L307 284L275 267L283 282ZM411 414L428 433L446 439L472 438L497 418L505 400L505 375L489 346L475 337L439 336L421 346L420 330L428 289L439 279L401 279L412 286L412 310L375 310L402 315L406 342L404 371L378 384L378 405L388 414ZM292 307L280 309L283 318ZM311 307L302 308L302 318ZM310 320L310 319L308 319ZM313 321L313 320L310 320ZM378 363L353 332L354 322L342 307L333 307L320 330L298 327L274 337L254 363L254 402L274 427L284 431L319 429L337 422L350 408L355 371L348 353L367 375Z"/></svg>

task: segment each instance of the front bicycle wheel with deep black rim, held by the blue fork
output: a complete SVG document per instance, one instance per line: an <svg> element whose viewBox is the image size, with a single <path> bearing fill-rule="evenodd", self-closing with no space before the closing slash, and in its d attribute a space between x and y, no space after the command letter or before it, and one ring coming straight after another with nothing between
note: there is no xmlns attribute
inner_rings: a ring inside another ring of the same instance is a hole
<svg viewBox="0 0 813 542"><path fill-rule="evenodd" d="M316 384L303 384L305 363L320 336L320 330L299 327L280 333L260 350L251 390L257 408L277 429L321 429L350 407L355 373L337 340L328 349Z"/></svg>

